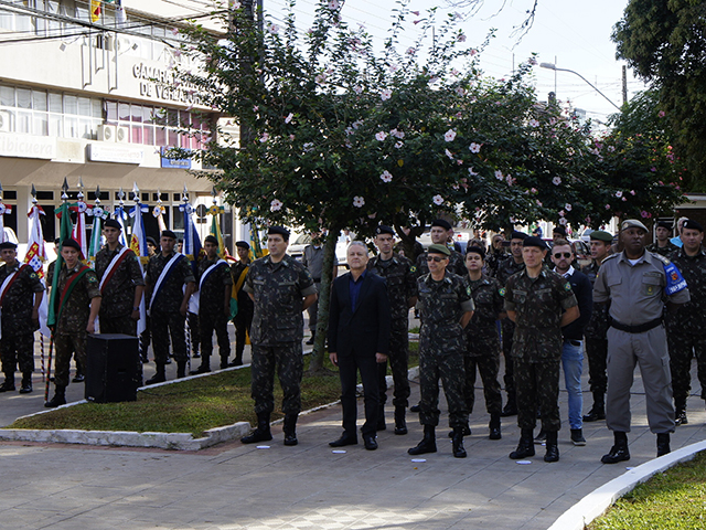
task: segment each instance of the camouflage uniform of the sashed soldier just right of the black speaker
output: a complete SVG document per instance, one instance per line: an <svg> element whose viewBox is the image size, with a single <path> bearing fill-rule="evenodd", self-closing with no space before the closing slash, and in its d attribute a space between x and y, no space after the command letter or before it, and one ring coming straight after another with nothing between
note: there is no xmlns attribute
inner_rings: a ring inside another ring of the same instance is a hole
<svg viewBox="0 0 706 530"><path fill-rule="evenodd" d="M145 283L154 288L157 279L164 269L164 266L174 256L172 252L169 256L159 254L152 256L147 265ZM169 339L171 336L172 350L176 362L186 362L189 351L184 337L184 316L180 312L181 303L184 299L184 285L195 282L191 271L189 259L183 257L176 263L171 275L162 283L159 296L151 300L150 327L152 333L152 349L154 350L154 362L159 367L167 363L169 356Z"/></svg>

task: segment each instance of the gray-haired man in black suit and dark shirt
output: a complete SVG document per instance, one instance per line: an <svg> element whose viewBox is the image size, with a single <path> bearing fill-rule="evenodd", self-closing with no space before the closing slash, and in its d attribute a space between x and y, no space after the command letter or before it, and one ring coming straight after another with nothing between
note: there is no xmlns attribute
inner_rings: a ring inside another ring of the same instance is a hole
<svg viewBox="0 0 706 530"><path fill-rule="evenodd" d="M368 451L377 448L377 363L387 361L391 315L385 280L366 271L367 261L365 243L352 242L347 250L351 272L338 277L331 292L329 356L339 367L343 407L343 435L331 442L331 447L357 444L355 386L360 370L365 402L363 442Z"/></svg>

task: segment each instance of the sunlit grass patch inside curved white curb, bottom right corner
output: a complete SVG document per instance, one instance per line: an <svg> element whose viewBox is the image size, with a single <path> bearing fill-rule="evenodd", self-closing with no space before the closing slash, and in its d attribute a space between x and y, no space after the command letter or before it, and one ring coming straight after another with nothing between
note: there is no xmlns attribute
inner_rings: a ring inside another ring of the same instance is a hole
<svg viewBox="0 0 706 530"><path fill-rule="evenodd" d="M706 452L655 475L596 519L590 530L706 528Z"/></svg>

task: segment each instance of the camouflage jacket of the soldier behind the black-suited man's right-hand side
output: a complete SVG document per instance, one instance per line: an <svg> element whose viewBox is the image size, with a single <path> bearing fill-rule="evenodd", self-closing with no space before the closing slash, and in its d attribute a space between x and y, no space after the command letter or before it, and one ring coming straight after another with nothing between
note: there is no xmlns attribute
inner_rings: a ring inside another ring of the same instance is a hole
<svg viewBox="0 0 706 530"><path fill-rule="evenodd" d="M393 254L384 261L375 256L367 262L367 269L385 278L393 327L406 326L409 320L409 298L417 296L417 278L411 262L404 256Z"/></svg>

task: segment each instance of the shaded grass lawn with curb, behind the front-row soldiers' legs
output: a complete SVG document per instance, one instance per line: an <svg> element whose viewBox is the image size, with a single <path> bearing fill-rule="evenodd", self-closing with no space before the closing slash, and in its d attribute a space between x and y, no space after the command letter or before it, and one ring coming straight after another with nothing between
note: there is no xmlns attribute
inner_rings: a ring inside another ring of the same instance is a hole
<svg viewBox="0 0 706 530"><path fill-rule="evenodd" d="M417 343L410 347L409 365L418 364ZM301 382L302 410L324 405L341 396L341 383L328 356L324 367L330 375L307 373L304 357ZM389 372L389 369L388 369ZM275 378L277 380L277 378ZM281 389L275 384L272 420L282 417ZM192 433L194 436L213 427L236 422L257 423L250 399L250 369L232 370L205 378L147 389L138 392L136 402L85 403L46 414L18 420L7 428L78 428L87 431L137 431Z"/></svg>

